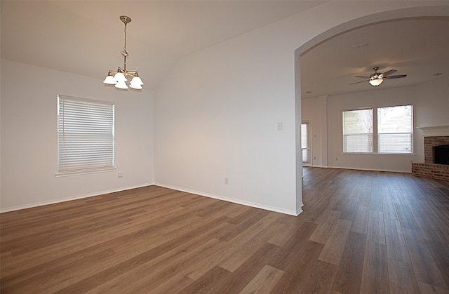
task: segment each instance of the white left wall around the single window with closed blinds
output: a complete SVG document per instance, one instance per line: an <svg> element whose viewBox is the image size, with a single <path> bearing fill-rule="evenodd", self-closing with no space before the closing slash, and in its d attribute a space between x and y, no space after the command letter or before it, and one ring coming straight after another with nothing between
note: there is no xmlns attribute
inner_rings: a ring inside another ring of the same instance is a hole
<svg viewBox="0 0 449 294"><path fill-rule="evenodd" d="M55 177L58 94L115 102L116 171ZM1 60L2 212L152 184L152 153L152 91Z"/></svg>

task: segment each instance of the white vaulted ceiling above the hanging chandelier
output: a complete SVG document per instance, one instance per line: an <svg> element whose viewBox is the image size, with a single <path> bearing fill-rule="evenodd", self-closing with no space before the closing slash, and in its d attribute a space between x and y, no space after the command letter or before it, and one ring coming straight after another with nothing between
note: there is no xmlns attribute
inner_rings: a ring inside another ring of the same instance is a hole
<svg viewBox="0 0 449 294"><path fill-rule="evenodd" d="M128 15L128 69L154 88L185 55L322 2L2 0L1 57L103 79L123 67Z"/></svg>

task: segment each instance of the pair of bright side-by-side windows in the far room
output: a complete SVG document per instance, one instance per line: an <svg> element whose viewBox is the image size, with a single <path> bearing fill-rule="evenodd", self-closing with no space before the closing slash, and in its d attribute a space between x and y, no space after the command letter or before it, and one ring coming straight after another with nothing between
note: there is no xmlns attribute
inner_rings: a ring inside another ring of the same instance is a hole
<svg viewBox="0 0 449 294"><path fill-rule="evenodd" d="M375 117L373 117L375 114ZM377 121L373 128L373 121ZM376 140L373 140L373 134ZM413 153L413 105L343 112L343 152Z"/></svg>

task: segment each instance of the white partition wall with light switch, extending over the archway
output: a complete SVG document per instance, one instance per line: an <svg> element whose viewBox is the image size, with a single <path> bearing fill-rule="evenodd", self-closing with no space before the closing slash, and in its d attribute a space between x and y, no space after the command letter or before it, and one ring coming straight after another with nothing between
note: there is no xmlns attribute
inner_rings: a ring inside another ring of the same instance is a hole
<svg viewBox="0 0 449 294"><path fill-rule="evenodd" d="M426 4L330 1L187 56L156 91L155 182L300 212L293 52L350 20Z"/></svg>

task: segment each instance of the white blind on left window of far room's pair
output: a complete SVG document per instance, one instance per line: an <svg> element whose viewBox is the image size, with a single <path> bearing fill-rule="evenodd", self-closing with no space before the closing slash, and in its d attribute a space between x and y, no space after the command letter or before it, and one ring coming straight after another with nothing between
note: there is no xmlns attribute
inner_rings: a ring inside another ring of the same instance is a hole
<svg viewBox="0 0 449 294"><path fill-rule="evenodd" d="M343 152L373 152L373 109L343 112Z"/></svg>

